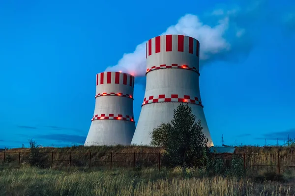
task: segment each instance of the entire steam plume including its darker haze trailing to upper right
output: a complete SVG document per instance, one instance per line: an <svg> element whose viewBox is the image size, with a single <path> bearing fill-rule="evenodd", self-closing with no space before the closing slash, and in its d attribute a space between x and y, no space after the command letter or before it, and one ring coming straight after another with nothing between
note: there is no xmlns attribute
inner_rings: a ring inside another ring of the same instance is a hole
<svg viewBox="0 0 295 196"><path fill-rule="evenodd" d="M267 10L266 3L264 0L253 4L247 1L247 5L234 9L216 9L204 15L207 24L196 15L186 14L161 35L181 34L199 40L200 68L214 61L236 62L247 56L258 41L255 37L258 39L261 24L267 25L271 11ZM108 67L106 71L130 73L139 77L137 82L144 83L140 77L146 74L146 42L139 44L134 52L123 54L118 64Z"/></svg>

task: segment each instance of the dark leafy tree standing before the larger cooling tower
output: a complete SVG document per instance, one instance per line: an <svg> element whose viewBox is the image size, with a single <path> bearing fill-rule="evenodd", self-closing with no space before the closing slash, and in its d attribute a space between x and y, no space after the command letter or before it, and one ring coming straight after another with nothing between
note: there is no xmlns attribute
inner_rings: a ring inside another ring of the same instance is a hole
<svg viewBox="0 0 295 196"><path fill-rule="evenodd" d="M189 105L180 104L174 110L171 123L162 123L151 134L151 145L163 147L164 164L176 166L200 166L208 139L202 131L201 121L195 123Z"/></svg>

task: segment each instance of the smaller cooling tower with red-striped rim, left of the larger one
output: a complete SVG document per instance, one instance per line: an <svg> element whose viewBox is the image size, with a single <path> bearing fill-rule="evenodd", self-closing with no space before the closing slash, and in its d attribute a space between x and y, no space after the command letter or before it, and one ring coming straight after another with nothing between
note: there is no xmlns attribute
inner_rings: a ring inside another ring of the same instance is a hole
<svg viewBox="0 0 295 196"><path fill-rule="evenodd" d="M85 146L130 145L133 118L134 76L104 72L96 75L95 108Z"/></svg>

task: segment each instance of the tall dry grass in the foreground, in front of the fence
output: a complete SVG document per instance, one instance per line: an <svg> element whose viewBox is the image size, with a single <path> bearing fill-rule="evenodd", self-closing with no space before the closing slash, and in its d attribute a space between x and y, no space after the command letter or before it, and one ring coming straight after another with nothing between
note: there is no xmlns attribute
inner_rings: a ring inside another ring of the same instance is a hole
<svg viewBox="0 0 295 196"><path fill-rule="evenodd" d="M188 175L189 174L189 175ZM0 196L294 196L294 187L203 171L0 169Z"/></svg>

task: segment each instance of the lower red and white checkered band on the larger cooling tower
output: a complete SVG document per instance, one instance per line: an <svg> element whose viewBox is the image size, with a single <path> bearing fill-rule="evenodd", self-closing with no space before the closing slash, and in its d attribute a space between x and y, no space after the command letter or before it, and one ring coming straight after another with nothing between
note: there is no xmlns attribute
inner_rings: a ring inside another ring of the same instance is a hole
<svg viewBox="0 0 295 196"><path fill-rule="evenodd" d="M183 103L193 103L197 105L202 105L202 102L197 97L191 97L189 95L179 96L179 95L158 95L158 96L149 96L148 98L144 98L144 102L142 105L146 105L148 103L159 103L159 102L183 102Z"/></svg>

